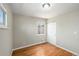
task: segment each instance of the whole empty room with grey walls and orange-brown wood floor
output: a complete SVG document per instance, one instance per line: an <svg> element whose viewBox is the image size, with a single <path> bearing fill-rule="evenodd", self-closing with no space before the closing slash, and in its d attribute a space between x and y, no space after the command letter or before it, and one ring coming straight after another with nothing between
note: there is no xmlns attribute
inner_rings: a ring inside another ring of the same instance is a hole
<svg viewBox="0 0 79 59"><path fill-rule="evenodd" d="M0 56L78 56L79 3L0 3Z"/></svg>

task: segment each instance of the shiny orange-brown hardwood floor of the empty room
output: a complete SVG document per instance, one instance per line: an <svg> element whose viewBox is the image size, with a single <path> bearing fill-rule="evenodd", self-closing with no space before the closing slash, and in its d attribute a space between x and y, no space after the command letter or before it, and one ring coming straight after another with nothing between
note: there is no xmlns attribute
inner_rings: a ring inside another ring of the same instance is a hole
<svg viewBox="0 0 79 59"><path fill-rule="evenodd" d="M73 54L49 43L13 51L13 56L72 56Z"/></svg>

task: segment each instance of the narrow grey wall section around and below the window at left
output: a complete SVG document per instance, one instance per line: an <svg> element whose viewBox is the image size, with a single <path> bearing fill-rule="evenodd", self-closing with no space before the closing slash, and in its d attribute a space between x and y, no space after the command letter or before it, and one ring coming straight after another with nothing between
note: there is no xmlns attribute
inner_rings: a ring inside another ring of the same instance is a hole
<svg viewBox="0 0 79 59"><path fill-rule="evenodd" d="M12 13L7 4L4 4L4 7L8 15L8 28L0 28L0 56L8 56L12 52Z"/></svg>

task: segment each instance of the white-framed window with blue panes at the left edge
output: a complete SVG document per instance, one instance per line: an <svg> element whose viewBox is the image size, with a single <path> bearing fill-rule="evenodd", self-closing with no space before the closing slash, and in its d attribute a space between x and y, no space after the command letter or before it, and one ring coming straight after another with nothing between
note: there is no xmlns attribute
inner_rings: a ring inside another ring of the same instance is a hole
<svg viewBox="0 0 79 59"><path fill-rule="evenodd" d="M7 14L3 5L0 5L0 28L6 28L6 27L7 27Z"/></svg>

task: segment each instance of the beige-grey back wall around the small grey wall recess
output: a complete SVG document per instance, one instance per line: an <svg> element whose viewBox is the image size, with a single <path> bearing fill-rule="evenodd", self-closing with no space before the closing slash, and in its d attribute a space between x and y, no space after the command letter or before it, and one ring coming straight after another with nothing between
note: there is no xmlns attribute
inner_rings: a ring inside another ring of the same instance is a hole
<svg viewBox="0 0 79 59"><path fill-rule="evenodd" d="M37 34L37 24L44 24L45 35ZM14 15L13 49L46 41L46 20L41 18Z"/></svg>

